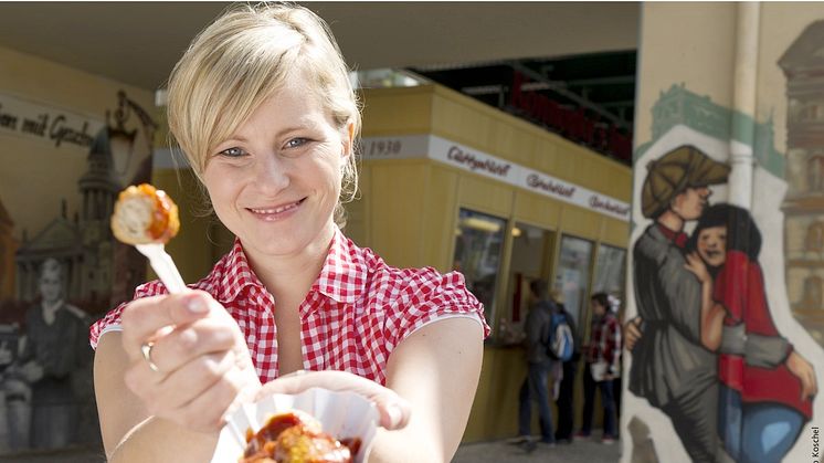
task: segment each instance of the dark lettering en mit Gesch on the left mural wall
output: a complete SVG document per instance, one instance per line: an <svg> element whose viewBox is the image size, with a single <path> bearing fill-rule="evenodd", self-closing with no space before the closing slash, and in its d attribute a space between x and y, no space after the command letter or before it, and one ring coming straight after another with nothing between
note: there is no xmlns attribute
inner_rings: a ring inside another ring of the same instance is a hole
<svg viewBox="0 0 824 463"><path fill-rule="evenodd" d="M56 148L82 148L85 152L104 125L70 111L0 94L0 134L39 139Z"/></svg>

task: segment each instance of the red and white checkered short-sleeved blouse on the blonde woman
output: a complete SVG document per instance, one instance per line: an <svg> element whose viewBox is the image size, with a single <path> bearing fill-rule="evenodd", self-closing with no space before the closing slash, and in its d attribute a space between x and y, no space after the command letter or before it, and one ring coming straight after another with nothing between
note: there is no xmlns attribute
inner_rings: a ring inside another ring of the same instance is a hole
<svg viewBox="0 0 824 463"><path fill-rule="evenodd" d="M211 294L237 320L261 381L277 378L275 301L249 266L240 241L205 278L189 286ZM158 294L166 294L166 286L152 281L138 286L135 298ZM120 329L125 306L92 325L93 348L106 332ZM466 288L462 274L389 266L340 230L299 311L305 370L344 370L381 385L395 346L429 323L469 317L482 324L484 336L489 335L483 305Z"/></svg>

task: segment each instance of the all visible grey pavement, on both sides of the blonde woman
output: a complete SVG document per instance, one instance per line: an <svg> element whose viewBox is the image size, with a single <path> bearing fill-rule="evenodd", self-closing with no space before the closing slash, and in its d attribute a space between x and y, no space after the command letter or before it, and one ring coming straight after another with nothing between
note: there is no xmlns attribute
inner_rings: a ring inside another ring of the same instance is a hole
<svg viewBox="0 0 824 463"><path fill-rule="evenodd" d="M617 462L621 444L603 445L598 441L575 441L547 448L538 444L535 451L511 445L506 441L462 445L452 463L612 463ZM0 456L0 462L14 463L102 463L99 452L76 449L57 453Z"/></svg>

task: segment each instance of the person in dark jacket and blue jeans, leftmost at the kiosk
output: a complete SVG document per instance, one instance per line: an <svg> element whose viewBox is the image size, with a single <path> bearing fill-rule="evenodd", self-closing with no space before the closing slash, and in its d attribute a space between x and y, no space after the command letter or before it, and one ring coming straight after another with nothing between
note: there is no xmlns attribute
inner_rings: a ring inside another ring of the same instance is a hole
<svg viewBox="0 0 824 463"><path fill-rule="evenodd" d="M531 304L525 322L525 347L527 354L527 377L518 394L518 438L514 443L532 444L530 424L532 421L532 401L538 402L538 418L541 428L541 443L554 445L552 431L552 409L549 407L547 381L553 360L547 354L549 332L552 323L554 304L548 297L549 284L545 280L535 280L529 284ZM534 450L535 448L527 448Z"/></svg>

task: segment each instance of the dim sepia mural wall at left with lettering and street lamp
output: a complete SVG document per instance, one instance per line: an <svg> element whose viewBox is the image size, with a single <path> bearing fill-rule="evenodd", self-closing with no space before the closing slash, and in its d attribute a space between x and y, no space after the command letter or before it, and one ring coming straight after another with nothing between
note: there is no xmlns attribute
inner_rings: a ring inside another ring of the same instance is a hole
<svg viewBox="0 0 824 463"><path fill-rule="evenodd" d="M88 324L145 281L108 217L151 173L154 94L6 48L0 62L0 455L99 448Z"/></svg>

